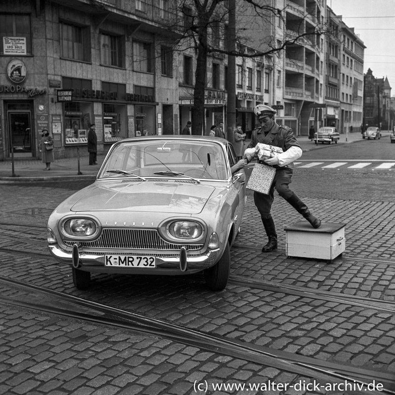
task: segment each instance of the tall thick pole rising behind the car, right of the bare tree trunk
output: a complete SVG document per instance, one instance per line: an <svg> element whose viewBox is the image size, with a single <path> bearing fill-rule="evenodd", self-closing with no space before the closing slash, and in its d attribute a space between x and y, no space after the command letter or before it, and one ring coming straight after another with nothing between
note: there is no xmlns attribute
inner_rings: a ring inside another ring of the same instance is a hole
<svg viewBox="0 0 395 395"><path fill-rule="evenodd" d="M236 51L236 0L229 0L228 51ZM228 100L226 104L227 139L235 143L236 129L236 56L228 55Z"/></svg>

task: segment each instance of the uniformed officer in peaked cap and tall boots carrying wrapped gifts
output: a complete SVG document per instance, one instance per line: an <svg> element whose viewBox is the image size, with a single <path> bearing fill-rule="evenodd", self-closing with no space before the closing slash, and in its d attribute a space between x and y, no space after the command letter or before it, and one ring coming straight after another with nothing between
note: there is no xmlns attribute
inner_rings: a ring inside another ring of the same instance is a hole
<svg viewBox="0 0 395 395"><path fill-rule="evenodd" d="M275 154L273 158L263 161L264 164L276 169L269 194L264 195L254 191L254 203L261 214L262 223L269 238L268 243L262 247L262 252L269 252L277 248L276 227L271 215L275 188L278 195L302 214L313 228L319 228L321 220L312 215L306 204L289 188L293 173L292 162L302 156L302 149L292 129L278 125L275 120L276 110L269 106L259 104L255 107L254 113L260 127L252 131L248 148L255 148L258 143L263 143L280 147L283 150L282 154Z"/></svg>

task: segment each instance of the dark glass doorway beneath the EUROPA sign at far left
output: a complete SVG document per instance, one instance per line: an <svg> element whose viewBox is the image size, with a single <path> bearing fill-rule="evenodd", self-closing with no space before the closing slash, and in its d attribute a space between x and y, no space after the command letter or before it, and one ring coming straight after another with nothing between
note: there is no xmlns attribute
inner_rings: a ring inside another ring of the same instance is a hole
<svg viewBox="0 0 395 395"><path fill-rule="evenodd" d="M34 156L30 103L7 103L8 153L15 158Z"/></svg>

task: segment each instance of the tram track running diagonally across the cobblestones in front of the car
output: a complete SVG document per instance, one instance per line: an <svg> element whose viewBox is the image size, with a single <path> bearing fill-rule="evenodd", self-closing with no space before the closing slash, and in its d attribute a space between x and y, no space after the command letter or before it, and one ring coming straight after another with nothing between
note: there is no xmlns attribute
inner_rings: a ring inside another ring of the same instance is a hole
<svg viewBox="0 0 395 395"><path fill-rule="evenodd" d="M142 316L3 276L0 276L0 282L3 286L9 287L13 291L14 296L15 288L26 292L25 296L19 295L18 298L13 297L12 299L1 296L1 304L80 319L95 324L144 332L188 346L198 347L208 352L215 352L249 362L271 366L301 376L311 377L322 382L354 382L363 384L364 388L366 388L370 382L375 380L383 384L383 390L379 392L372 391L370 394L395 394L390 388L394 379L390 373L340 365L339 363L279 351L269 347L257 346L236 339L213 336L164 320ZM4 292L2 294L4 295ZM35 294L38 296L34 297ZM359 394L360 392L351 391L349 394L354 393Z"/></svg>

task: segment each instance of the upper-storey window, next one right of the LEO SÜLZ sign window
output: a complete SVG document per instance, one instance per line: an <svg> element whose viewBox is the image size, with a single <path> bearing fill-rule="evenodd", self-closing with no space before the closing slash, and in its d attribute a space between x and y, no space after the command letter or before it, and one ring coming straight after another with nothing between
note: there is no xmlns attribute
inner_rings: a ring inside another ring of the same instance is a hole
<svg viewBox="0 0 395 395"><path fill-rule="evenodd" d="M90 32L86 27L60 23L61 55L64 58L90 61Z"/></svg>

